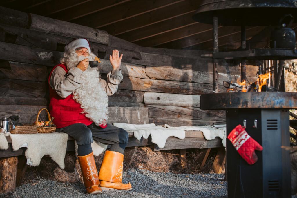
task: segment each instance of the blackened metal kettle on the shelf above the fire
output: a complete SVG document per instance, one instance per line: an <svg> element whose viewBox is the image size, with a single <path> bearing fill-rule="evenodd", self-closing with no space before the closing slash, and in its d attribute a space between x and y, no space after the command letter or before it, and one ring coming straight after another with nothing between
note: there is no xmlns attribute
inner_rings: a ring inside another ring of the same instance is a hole
<svg viewBox="0 0 297 198"><path fill-rule="evenodd" d="M271 32L270 48L295 49L295 31L288 27L292 25L293 21L292 15L285 15L281 18L279 27Z"/></svg>

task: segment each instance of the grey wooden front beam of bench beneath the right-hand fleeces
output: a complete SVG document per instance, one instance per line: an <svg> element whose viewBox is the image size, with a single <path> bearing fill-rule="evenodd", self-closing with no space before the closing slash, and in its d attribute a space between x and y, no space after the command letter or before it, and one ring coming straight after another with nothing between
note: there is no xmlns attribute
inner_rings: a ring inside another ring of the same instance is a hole
<svg viewBox="0 0 297 198"><path fill-rule="evenodd" d="M154 146L154 151L185 149L185 148L217 148L222 146L222 139L206 140L204 137L186 137L184 139L168 138L164 148Z"/></svg>

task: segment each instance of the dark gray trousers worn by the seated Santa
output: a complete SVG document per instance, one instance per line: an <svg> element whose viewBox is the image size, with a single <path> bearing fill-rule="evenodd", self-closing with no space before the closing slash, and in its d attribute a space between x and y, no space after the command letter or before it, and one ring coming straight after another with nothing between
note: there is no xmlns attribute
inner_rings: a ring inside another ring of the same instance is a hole
<svg viewBox="0 0 297 198"><path fill-rule="evenodd" d="M79 156L87 155L92 152L90 149L93 139L102 144L110 144L110 151L124 153L129 139L127 131L111 124L107 124L107 127L102 129L94 123L89 126L77 123L56 129L56 132L67 133L70 137L76 140L76 143L79 145ZM80 147L80 145L83 146Z"/></svg>

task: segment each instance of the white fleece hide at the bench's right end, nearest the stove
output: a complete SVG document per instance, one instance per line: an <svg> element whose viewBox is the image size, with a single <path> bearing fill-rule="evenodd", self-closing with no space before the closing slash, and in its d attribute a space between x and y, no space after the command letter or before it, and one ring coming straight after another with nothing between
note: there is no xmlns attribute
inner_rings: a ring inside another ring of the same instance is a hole
<svg viewBox="0 0 297 198"><path fill-rule="evenodd" d="M163 127L169 129L181 129L185 131L202 131L203 136L206 140L213 140L216 137L222 139L222 144L226 147L226 128L222 127L222 129L215 128L213 126L169 126L168 124L164 124ZM221 127L219 125L219 127Z"/></svg>

